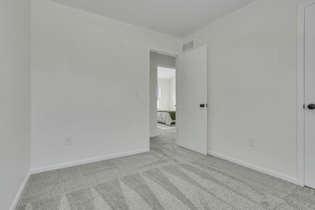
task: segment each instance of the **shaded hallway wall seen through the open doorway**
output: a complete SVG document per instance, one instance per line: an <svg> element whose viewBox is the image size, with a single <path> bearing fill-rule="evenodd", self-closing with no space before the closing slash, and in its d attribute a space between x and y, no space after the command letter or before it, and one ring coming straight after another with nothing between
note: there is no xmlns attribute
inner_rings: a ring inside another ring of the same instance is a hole
<svg viewBox="0 0 315 210"><path fill-rule="evenodd" d="M180 50L178 52L180 52ZM150 136L158 135L157 133L158 64L175 68L176 58L172 56L150 52Z"/></svg>

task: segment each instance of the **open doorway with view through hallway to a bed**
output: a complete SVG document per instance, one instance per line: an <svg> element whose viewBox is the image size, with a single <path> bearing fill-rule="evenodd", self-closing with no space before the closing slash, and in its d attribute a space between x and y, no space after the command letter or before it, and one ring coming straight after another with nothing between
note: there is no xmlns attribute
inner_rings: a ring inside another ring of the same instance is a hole
<svg viewBox="0 0 315 210"><path fill-rule="evenodd" d="M150 51L150 137L176 137L176 56Z"/></svg>

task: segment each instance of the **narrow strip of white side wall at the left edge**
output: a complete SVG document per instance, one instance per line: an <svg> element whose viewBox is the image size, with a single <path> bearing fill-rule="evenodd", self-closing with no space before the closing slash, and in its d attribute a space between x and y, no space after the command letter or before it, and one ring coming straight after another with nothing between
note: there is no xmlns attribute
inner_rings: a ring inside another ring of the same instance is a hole
<svg viewBox="0 0 315 210"><path fill-rule="evenodd" d="M0 210L31 169L31 0L0 0Z"/></svg>

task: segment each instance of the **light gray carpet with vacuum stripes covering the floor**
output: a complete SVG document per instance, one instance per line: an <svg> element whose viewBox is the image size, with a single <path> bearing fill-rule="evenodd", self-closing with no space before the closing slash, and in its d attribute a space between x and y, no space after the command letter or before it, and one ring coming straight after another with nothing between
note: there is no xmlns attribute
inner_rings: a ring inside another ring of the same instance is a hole
<svg viewBox="0 0 315 210"><path fill-rule="evenodd" d="M314 210L315 190L175 145L33 174L17 210Z"/></svg>

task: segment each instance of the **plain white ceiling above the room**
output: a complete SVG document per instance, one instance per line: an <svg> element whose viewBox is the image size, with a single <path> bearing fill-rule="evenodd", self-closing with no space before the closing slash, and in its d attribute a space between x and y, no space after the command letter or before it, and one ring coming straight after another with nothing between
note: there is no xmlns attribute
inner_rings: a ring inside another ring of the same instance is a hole
<svg viewBox="0 0 315 210"><path fill-rule="evenodd" d="M52 0L178 38L254 0Z"/></svg>

